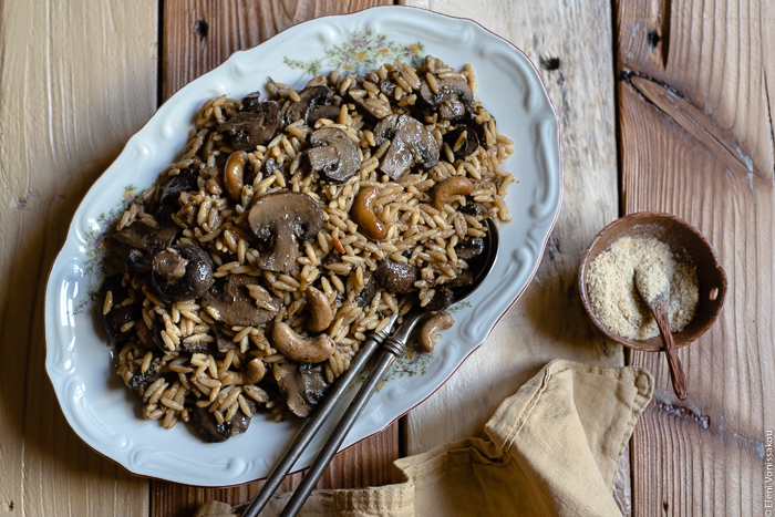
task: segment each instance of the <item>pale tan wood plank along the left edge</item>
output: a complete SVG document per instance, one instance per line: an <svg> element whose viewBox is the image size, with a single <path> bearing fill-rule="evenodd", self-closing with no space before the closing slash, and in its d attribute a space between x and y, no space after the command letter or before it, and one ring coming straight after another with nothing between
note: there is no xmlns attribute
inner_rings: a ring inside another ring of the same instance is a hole
<svg viewBox="0 0 775 517"><path fill-rule="evenodd" d="M0 513L145 515L147 480L92 452L60 411L43 299L78 204L156 106L156 1L0 10Z"/></svg>

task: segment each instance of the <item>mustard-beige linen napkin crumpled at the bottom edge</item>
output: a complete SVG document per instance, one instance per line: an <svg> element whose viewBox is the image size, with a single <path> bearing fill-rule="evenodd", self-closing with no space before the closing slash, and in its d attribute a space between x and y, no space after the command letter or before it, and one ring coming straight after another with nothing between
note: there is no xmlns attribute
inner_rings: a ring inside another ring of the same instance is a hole
<svg viewBox="0 0 775 517"><path fill-rule="evenodd" d="M307 517L608 516L619 457L653 392L639 368L552 361L466 438L394 462L394 485L317 490ZM282 511L290 493L261 516ZM205 504L195 517L232 516ZM238 515L238 514L236 514Z"/></svg>

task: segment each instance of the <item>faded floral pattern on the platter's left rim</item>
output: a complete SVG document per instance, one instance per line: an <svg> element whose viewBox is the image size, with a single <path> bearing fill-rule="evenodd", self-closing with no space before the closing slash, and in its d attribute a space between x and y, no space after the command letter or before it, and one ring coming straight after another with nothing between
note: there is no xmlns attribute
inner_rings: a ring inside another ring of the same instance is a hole
<svg viewBox="0 0 775 517"><path fill-rule="evenodd" d="M107 257L105 239L115 232L113 223L116 217L121 217L124 210L132 206L136 190L137 187L134 185L125 186L121 201L112 210L107 214L100 214L95 219L89 219L89 230L84 235L85 246L83 248L87 257L83 262L83 275L89 279L89 287L86 288L86 297L79 300L73 307L73 316L83 312L90 301L96 302L100 294L99 279L105 272L105 258Z"/></svg>

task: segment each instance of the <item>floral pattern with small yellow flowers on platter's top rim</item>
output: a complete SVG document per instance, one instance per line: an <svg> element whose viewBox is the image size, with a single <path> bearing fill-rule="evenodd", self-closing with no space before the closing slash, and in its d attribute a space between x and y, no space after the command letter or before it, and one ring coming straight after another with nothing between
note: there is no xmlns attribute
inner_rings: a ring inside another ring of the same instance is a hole
<svg viewBox="0 0 775 517"><path fill-rule="evenodd" d="M384 34L375 34L368 30L351 32L344 43L327 46L323 51L326 55L317 60L301 61L286 55L282 61L289 68L301 70L307 75L320 75L324 68L343 73L360 73L395 59L418 66L422 63L424 46L418 41L407 45L400 44L388 40Z"/></svg>

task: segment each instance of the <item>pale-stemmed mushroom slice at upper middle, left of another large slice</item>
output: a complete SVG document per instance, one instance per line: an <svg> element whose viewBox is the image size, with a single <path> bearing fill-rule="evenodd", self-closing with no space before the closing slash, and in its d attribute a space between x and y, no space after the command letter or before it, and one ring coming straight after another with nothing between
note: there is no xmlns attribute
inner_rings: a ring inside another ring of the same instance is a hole
<svg viewBox="0 0 775 517"><path fill-rule="evenodd" d="M333 183L343 183L361 169L355 143L337 127L321 127L310 135L313 147L304 151L310 168Z"/></svg>

